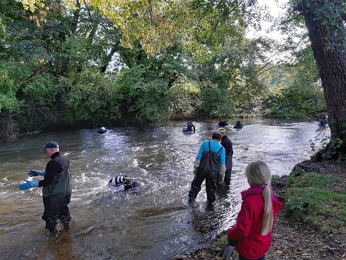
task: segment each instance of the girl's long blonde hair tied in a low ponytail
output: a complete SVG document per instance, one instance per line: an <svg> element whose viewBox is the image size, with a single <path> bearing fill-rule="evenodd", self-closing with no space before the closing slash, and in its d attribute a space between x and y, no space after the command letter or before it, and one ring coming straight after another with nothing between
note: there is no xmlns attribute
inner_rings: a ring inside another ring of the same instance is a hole
<svg viewBox="0 0 346 260"><path fill-rule="evenodd" d="M248 164L245 175L253 185L264 186L262 197L264 200L264 212L262 220L262 236L266 236L273 228L273 206L271 203L271 188L268 187L271 180L271 171L263 161L255 161Z"/></svg>

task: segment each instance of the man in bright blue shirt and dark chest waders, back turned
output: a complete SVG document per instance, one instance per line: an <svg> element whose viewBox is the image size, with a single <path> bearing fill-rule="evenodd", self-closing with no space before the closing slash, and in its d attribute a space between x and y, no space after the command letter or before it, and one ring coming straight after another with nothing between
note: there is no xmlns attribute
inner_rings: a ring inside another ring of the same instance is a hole
<svg viewBox="0 0 346 260"><path fill-rule="evenodd" d="M189 191L189 204L197 198L197 194L201 191L201 184L206 180L206 192L208 202L215 202L216 182L221 184L225 177L225 148L221 146L221 134L219 132L212 133L212 140L203 141L199 147L199 152L194 160L194 180L191 183ZM217 180L217 173L220 173Z"/></svg>

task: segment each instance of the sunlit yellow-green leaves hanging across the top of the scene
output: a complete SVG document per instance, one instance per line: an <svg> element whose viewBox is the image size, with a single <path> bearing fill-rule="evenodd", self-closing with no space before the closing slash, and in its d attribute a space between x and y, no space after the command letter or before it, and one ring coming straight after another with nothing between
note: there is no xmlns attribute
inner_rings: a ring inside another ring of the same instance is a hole
<svg viewBox="0 0 346 260"><path fill-rule="evenodd" d="M237 26L244 26L251 19L260 21L267 15L258 8L255 0L239 1L206 1L206 0L20 0L26 10L32 12L44 10L49 3L64 4L71 10L85 6L100 10L100 14L108 17L122 35L122 46L140 47L149 55L159 53L176 42L205 44L215 40L219 35L214 32L221 29L237 33ZM77 3L77 4L76 4ZM40 12L41 13L41 12ZM251 19L246 19L251 17ZM75 22L78 13L75 12ZM255 27L260 26L257 22ZM190 44L196 47L196 44Z"/></svg>

